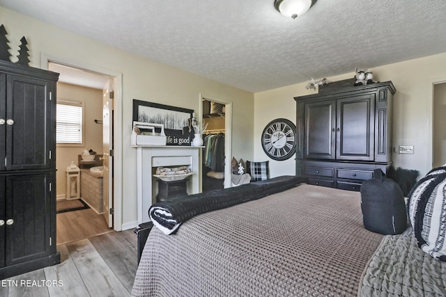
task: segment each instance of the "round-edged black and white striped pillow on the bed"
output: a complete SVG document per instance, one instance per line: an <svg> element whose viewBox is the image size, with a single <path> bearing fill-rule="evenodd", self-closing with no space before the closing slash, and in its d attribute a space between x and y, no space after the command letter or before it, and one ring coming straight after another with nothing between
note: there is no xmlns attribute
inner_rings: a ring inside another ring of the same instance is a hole
<svg viewBox="0 0 446 297"><path fill-rule="evenodd" d="M446 164L415 184L409 193L408 212L418 246L446 262Z"/></svg>

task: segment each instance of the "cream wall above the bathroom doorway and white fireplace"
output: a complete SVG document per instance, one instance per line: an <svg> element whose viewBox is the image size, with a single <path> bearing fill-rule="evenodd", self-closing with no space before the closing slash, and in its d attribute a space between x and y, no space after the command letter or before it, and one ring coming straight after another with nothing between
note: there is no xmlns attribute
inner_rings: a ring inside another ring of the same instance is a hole
<svg viewBox="0 0 446 297"><path fill-rule="evenodd" d="M123 115L123 224L137 221L136 149L130 147L132 99L157 102L199 111L200 94L233 102L233 154L247 159L253 154L254 95L226 86L148 58L130 54L101 42L85 38L52 24L40 22L0 6L1 23L16 55L20 38L26 37L31 66L41 67L40 55L73 65L92 65L118 72L123 77L123 106L115 113Z"/></svg>

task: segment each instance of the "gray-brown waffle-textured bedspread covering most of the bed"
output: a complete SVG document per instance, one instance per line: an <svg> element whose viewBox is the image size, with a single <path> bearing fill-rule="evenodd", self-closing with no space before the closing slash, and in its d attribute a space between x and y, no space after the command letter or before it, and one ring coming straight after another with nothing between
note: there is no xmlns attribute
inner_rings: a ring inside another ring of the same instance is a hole
<svg viewBox="0 0 446 297"><path fill-rule="evenodd" d="M360 193L302 184L176 234L154 227L132 296L357 296L382 239L362 225Z"/></svg>

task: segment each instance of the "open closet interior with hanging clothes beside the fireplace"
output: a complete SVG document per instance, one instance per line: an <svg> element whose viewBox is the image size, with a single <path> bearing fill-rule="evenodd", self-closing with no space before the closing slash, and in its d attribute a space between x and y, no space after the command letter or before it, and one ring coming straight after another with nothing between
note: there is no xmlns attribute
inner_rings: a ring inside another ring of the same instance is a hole
<svg viewBox="0 0 446 297"><path fill-rule="evenodd" d="M202 120L208 125L203 135L201 168L202 192L224 188L226 104L202 99Z"/></svg>

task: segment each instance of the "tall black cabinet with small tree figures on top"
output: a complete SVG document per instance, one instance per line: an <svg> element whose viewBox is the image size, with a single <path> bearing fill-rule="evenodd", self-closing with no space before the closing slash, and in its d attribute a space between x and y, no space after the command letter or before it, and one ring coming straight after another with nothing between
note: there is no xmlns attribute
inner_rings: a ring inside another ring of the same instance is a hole
<svg viewBox="0 0 446 297"><path fill-rule="evenodd" d="M58 79L54 72L0 61L0 279L60 263Z"/></svg>

